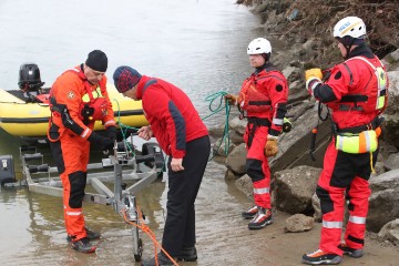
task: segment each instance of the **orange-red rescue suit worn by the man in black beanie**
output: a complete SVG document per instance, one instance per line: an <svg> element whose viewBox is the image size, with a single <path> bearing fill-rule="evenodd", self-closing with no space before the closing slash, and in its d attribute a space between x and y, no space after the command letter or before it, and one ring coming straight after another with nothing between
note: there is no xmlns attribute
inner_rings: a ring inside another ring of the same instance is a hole
<svg viewBox="0 0 399 266"><path fill-rule="evenodd" d="M68 235L73 241L86 236L82 201L86 184L90 142L94 122L115 126L106 93L106 78L91 85L83 65L65 71L50 91L51 117L48 137L63 185L63 211Z"/></svg>

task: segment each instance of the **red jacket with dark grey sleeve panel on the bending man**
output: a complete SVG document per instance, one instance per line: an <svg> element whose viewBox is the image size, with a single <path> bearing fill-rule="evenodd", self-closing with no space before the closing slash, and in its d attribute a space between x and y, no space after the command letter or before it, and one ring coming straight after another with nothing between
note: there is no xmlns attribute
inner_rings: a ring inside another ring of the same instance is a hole
<svg viewBox="0 0 399 266"><path fill-rule="evenodd" d="M137 84L145 117L162 150L175 158L185 155L186 143L208 134L188 96L177 86L143 75Z"/></svg>

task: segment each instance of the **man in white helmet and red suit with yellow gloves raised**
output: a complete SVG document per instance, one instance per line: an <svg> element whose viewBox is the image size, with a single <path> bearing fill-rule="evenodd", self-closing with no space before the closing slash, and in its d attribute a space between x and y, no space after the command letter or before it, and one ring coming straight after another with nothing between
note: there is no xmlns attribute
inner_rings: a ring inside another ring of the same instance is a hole
<svg viewBox="0 0 399 266"><path fill-rule="evenodd" d="M344 254L364 255L368 180L378 155L380 114L388 103L388 76L366 44L365 22L344 18L334 37L345 61L330 70L326 81L320 69L305 72L307 90L328 106L334 125L316 190L323 213L319 248L303 256L303 263L310 265L339 264ZM346 200L349 219L341 243Z"/></svg>

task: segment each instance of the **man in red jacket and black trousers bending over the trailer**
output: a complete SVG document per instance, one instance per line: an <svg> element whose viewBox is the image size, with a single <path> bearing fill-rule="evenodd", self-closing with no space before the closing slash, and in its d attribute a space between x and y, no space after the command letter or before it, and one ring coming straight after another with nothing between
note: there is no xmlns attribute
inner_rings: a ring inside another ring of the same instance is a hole
<svg viewBox="0 0 399 266"><path fill-rule="evenodd" d="M120 93L142 100L150 126L139 130L144 140L155 136L170 156L166 221L161 252L142 265L174 265L173 260L197 259L194 202L209 157L208 131L188 96L177 86L120 66L113 74ZM172 259L173 260L172 260ZM156 264L156 260L158 264Z"/></svg>

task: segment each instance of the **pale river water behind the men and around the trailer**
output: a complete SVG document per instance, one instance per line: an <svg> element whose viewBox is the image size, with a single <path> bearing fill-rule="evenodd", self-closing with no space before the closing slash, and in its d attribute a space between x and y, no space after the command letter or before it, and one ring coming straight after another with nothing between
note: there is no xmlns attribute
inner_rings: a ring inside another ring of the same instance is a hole
<svg viewBox="0 0 399 266"><path fill-rule="evenodd" d="M263 35L257 25L258 20L235 0L1 0L0 88L17 89L19 66L25 62L37 63L50 86L91 50L101 49L109 57L109 78L121 64L163 78L182 88L205 116L209 114L207 95L237 92L250 73L246 47ZM221 114L205 123L215 126L223 119ZM21 144L0 130L0 155L13 155L18 176ZM49 149L40 150L51 163ZM200 195L206 197L211 188L217 188L228 206L236 196L229 195L232 188L223 176L224 170L211 163ZM157 236L164 222L164 187L155 182L137 194ZM130 232L122 218L109 206L85 204L84 211L86 223L103 235L95 255L68 247L61 198L27 188L0 188L1 264L132 265L132 243L125 239Z"/></svg>

